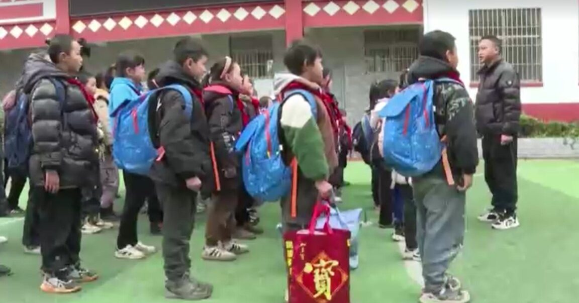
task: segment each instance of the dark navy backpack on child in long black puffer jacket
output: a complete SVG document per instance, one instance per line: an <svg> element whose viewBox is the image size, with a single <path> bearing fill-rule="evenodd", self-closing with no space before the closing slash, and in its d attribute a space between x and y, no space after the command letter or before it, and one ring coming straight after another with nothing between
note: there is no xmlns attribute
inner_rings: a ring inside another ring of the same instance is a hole
<svg viewBox="0 0 579 303"><path fill-rule="evenodd" d="M61 107L66 98L64 84L57 79L48 78L56 87L56 96ZM23 89L16 91L16 103L6 113L4 125L4 158L8 169L28 173L28 159L32 149L32 127L30 121L30 94Z"/></svg>

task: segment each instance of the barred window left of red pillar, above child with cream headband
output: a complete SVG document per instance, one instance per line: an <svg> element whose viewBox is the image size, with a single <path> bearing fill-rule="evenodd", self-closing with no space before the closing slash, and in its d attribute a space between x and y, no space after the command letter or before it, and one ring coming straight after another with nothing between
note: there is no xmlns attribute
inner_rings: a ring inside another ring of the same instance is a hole
<svg viewBox="0 0 579 303"><path fill-rule="evenodd" d="M267 78L273 61L272 35L232 36L229 41L233 60L251 78Z"/></svg>

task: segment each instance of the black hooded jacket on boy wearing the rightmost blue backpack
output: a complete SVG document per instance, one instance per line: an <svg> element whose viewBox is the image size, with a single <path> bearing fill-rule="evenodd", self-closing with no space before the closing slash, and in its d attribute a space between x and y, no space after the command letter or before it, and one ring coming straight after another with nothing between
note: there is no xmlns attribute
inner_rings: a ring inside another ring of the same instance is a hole
<svg viewBox="0 0 579 303"><path fill-rule="evenodd" d="M409 68L408 82L420 78L458 78L459 73L448 63L432 57L419 57ZM433 101L438 133L446 136L448 158L453 174L474 174L478 165L477 130L474 125L472 101L463 85L452 82L437 83ZM435 174L443 174L437 165Z"/></svg>

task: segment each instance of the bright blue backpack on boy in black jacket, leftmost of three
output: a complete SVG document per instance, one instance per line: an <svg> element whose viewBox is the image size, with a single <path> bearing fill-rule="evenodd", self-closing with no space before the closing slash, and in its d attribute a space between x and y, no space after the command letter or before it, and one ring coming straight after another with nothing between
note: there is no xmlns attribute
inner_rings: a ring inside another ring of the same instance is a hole
<svg viewBox="0 0 579 303"><path fill-rule="evenodd" d="M149 114L151 105L157 108L160 92L169 89L182 94L185 100L185 115L191 116L193 99L189 90L181 85L160 87L133 100L125 100L112 112L111 117L115 119L112 151L115 163L120 169L146 176L153 163L162 158L163 148L155 148L151 141ZM151 102L155 104L150 104Z"/></svg>

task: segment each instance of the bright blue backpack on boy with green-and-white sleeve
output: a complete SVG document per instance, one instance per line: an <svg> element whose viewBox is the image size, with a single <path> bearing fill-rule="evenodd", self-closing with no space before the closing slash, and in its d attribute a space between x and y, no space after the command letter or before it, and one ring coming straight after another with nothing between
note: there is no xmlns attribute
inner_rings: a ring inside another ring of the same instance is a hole
<svg viewBox="0 0 579 303"><path fill-rule="evenodd" d="M291 188L291 168L285 165L279 138L280 109L285 100L301 94L317 116L317 103L312 93L296 89L285 93L284 100L276 102L263 114L256 116L241 132L235 150L242 155L241 174L248 194L264 202L276 202Z"/></svg>

